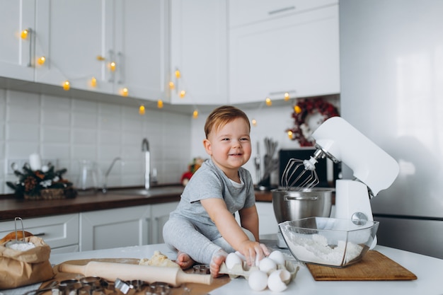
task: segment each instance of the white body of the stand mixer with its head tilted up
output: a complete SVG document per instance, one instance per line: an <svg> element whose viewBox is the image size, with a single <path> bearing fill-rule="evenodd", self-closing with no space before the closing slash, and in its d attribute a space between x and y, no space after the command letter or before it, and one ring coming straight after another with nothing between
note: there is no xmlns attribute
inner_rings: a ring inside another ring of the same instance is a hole
<svg viewBox="0 0 443 295"><path fill-rule="evenodd" d="M369 199L391 186L397 178L396 160L342 117L326 120L312 137L318 150L311 159L304 161L302 173L313 171L317 159L327 156L335 163L345 163L355 177L355 180L336 180L335 216L331 217L373 221ZM371 248L375 245L376 239Z"/></svg>

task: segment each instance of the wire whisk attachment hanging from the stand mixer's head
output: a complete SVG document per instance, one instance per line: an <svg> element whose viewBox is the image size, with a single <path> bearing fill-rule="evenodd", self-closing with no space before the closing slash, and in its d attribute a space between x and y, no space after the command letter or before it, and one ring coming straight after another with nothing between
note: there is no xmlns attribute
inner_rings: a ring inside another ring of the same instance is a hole
<svg viewBox="0 0 443 295"><path fill-rule="evenodd" d="M323 157L323 152L317 149L309 160L289 159L282 173L281 185L286 190L303 191L318 185L316 163Z"/></svg>

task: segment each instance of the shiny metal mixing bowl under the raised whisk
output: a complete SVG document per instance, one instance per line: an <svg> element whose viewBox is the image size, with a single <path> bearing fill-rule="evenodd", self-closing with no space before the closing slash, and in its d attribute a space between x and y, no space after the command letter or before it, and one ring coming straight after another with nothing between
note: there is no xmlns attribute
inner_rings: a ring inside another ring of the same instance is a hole
<svg viewBox="0 0 443 295"><path fill-rule="evenodd" d="M332 207L333 189L313 187L299 191L299 187L289 190L271 190L272 206L277 222L303 219L306 217L329 217Z"/></svg>

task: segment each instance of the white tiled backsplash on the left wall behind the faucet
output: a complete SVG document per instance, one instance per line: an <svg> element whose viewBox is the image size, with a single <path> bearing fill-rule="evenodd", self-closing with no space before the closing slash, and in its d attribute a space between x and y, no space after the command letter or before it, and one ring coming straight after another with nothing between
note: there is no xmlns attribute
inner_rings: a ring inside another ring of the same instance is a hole
<svg viewBox="0 0 443 295"><path fill-rule="evenodd" d="M141 116L127 105L0 88L0 193L10 193L6 181L17 180L8 174L11 159L33 153L56 159L72 182L80 159L97 161L105 171L120 156L125 165L115 164L108 187L143 185L144 137L159 183L179 183L190 162L190 126L190 115L146 110Z"/></svg>

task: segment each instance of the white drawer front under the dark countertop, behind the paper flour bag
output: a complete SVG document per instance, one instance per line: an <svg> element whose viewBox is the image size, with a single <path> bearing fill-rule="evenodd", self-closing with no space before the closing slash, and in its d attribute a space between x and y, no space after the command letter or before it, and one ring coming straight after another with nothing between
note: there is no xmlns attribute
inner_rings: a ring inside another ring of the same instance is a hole
<svg viewBox="0 0 443 295"><path fill-rule="evenodd" d="M0 236L21 230L20 221L0 222ZM64 214L23 219L25 231L42 238L51 247L51 253L79 251L79 214Z"/></svg>

